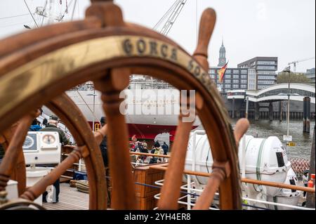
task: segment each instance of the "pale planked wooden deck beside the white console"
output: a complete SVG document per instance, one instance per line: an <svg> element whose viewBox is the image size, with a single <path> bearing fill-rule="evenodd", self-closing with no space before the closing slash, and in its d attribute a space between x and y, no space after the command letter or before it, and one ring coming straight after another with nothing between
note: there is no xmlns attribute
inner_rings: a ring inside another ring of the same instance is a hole
<svg viewBox="0 0 316 224"><path fill-rule="evenodd" d="M87 210L89 195L70 187L69 183L60 183L59 202L43 203L43 206L47 210Z"/></svg>

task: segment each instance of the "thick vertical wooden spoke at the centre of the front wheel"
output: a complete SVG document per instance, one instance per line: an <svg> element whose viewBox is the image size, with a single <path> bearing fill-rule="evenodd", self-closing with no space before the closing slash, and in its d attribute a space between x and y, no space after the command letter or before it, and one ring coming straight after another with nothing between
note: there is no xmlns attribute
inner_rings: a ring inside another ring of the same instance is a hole
<svg viewBox="0 0 316 224"><path fill-rule="evenodd" d="M102 92L103 110L107 118L107 149L112 177L111 207L113 209L136 209L129 156L129 135L125 117L120 112L123 99L119 98L119 93L129 84L130 74L126 69L114 69L104 79L95 81L96 89ZM117 79L119 75L121 79Z"/></svg>

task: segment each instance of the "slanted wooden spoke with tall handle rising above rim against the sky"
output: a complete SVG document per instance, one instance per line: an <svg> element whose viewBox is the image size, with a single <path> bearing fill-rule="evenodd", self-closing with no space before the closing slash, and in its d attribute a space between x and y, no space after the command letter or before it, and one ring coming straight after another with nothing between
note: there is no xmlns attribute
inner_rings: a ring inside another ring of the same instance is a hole
<svg viewBox="0 0 316 224"><path fill-rule="evenodd" d="M207 48L209 46L209 39L213 32L215 25L215 12L212 9L206 9L202 14L199 39L197 48L193 57L199 62L205 70L209 69L207 62ZM199 95L199 93L197 93ZM203 103L200 97L197 97L199 110L202 109ZM190 99L192 101L192 99ZM182 103L182 102L181 102ZM194 101L195 103L195 101ZM187 105L185 105L186 107ZM192 105L189 104L189 107ZM195 108L195 105L194 105ZM187 110L187 108L184 108ZM179 117L179 124L176 130L176 138L172 147L172 156L169 161L169 166L165 174L164 185L162 187L162 195L160 197L158 207L159 209L178 209L178 198L180 197L180 186L182 185L182 175L185 165L185 154L187 152L187 143L190 138L190 131L192 129L192 122L182 122L183 115ZM213 178L211 180L214 180ZM211 181L213 182L213 181ZM204 194L208 194L205 192Z"/></svg>

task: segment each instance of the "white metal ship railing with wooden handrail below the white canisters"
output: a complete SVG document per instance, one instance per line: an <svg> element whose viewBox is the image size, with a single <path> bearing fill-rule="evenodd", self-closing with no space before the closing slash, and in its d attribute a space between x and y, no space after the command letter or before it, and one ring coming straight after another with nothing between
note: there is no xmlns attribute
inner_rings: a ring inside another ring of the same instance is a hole
<svg viewBox="0 0 316 224"><path fill-rule="evenodd" d="M150 169L158 169L158 170L166 171L166 169L167 169L166 166L168 166L168 164L157 164L154 166L150 166ZM179 204L186 203L187 209L190 210L191 206L192 206L192 201L191 201L192 193L191 192L202 192L203 191L203 190L199 190L199 189L191 187L192 183L194 183L194 182L191 181L190 175L209 177L211 175L211 173L204 173L204 172L197 172L197 171L183 171L183 173L188 174L187 175L187 184L181 186L181 189L187 190L187 202L179 202ZM164 180L157 180L154 183L156 185L163 185L163 182L164 182ZM315 188L313 188L313 187L302 187L302 186L297 186L297 185L288 185L288 184L284 184L284 183L275 183L275 182L265 181L265 180L251 180L248 178L242 178L242 183L267 185L267 186L271 186L271 187L280 187L280 188L291 189L291 190L300 190L300 191L311 192L311 193L315 194ZM160 194L155 195L155 198L159 199L159 195ZM193 194L193 195L199 197L199 195L197 195L197 194ZM218 195L218 193L216 193L216 195ZM248 202L258 202L261 204L271 204L271 205L275 205L275 206L284 206L284 207L288 207L291 209L315 210L313 208L306 208L303 206L294 206L294 205L281 204L281 203L276 203L276 202L267 202L267 201L263 201L263 200L259 200L259 199L251 199L249 197L242 197L242 199L245 201L248 201ZM251 206L251 205L243 204L243 206ZM252 207L255 207L257 209L267 209L267 208L261 208L258 206L252 206Z"/></svg>

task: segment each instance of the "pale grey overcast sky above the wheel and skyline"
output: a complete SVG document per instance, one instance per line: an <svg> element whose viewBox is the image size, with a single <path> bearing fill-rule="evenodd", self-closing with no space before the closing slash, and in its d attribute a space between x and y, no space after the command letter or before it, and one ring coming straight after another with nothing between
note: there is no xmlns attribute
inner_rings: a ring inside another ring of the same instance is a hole
<svg viewBox="0 0 316 224"><path fill-rule="evenodd" d="M59 1L59 0L58 0ZM65 0L63 0L65 1ZM68 3L72 0L67 0ZM88 0L78 0L74 19L84 18ZM145 27L154 27L175 0L117 0L124 19ZM27 0L32 12L43 6L43 0ZM197 18L204 8L214 8L216 27L209 46L211 66L218 64L222 36L228 67L256 56L276 56L278 71L288 62L315 57L315 0L187 0L168 37L192 53L197 40ZM71 8L72 10L72 8ZM0 1L0 18L28 13L22 0ZM70 19L67 15L66 20ZM23 15L0 19L0 38L34 27L32 17ZM315 67L315 59L299 62L297 72Z"/></svg>

